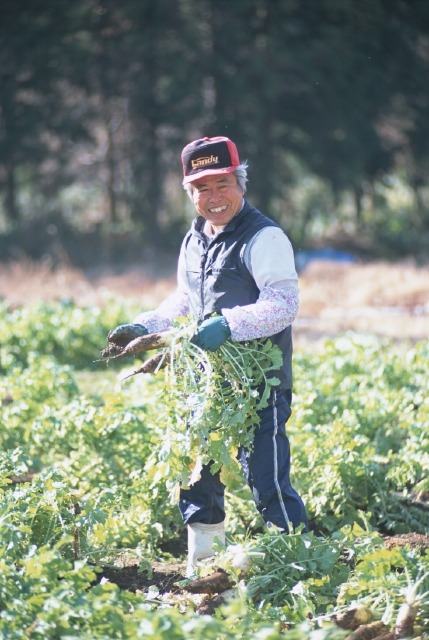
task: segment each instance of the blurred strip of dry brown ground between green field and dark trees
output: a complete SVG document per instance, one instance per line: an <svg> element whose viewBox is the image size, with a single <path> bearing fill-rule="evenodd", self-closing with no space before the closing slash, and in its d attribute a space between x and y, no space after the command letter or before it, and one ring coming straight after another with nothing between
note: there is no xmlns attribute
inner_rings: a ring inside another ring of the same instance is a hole
<svg viewBox="0 0 429 640"><path fill-rule="evenodd" d="M0 296L10 308L64 298L79 306L105 306L106 296L115 296L138 301L141 310L153 309L176 287L176 262L176 255L155 252L123 269L0 264ZM314 348L349 330L398 341L428 339L429 267L312 262L299 281L300 309L293 325L298 348Z"/></svg>

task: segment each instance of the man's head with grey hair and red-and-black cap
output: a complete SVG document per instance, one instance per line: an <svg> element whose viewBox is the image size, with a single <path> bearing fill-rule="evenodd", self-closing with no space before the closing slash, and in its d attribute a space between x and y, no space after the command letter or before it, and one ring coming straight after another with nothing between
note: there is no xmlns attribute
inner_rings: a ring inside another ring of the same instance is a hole
<svg viewBox="0 0 429 640"><path fill-rule="evenodd" d="M246 191L247 163L224 137L201 138L182 151L183 186L198 213L222 228L240 211Z"/></svg>

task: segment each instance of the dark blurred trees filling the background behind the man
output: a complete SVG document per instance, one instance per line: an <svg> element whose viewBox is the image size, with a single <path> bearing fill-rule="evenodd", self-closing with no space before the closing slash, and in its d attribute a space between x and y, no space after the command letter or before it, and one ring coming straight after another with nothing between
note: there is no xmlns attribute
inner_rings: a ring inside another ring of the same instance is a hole
<svg viewBox="0 0 429 640"><path fill-rule="evenodd" d="M0 256L176 250L180 151L227 135L295 249L429 246L426 0L3 0Z"/></svg>

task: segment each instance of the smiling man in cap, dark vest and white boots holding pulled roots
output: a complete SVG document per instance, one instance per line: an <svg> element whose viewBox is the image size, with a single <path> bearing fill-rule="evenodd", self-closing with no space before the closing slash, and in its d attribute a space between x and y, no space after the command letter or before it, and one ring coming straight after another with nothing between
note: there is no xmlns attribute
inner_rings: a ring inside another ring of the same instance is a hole
<svg viewBox="0 0 429 640"><path fill-rule="evenodd" d="M124 343L168 329L187 312L198 320L193 338L214 351L235 341L270 336L283 353L269 406L259 412L253 451L240 450L239 461L256 507L268 527L284 532L307 526L303 502L289 478L290 448L285 425L291 414L291 324L298 311L298 278L292 246L280 227L245 199L247 165L225 137L202 138L182 152L183 186L198 217L180 251L178 288L158 309L133 324L115 329ZM217 314L217 315L213 315ZM179 508L188 525L188 569L212 555L212 542L224 540L224 485L210 465L182 490Z"/></svg>

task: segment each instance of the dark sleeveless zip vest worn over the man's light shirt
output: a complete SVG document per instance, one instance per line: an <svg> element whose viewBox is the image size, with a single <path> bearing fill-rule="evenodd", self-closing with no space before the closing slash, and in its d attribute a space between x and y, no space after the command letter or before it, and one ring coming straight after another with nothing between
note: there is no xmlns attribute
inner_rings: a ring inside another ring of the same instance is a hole
<svg viewBox="0 0 429 640"><path fill-rule="evenodd" d="M278 225L245 200L244 207L212 240L201 233L205 219L199 216L185 236L186 276L192 315L202 322L221 309L253 304L259 297L244 263L247 244L265 227ZM270 336L283 353L283 367L275 372L282 389L292 388L292 331L286 327Z"/></svg>

